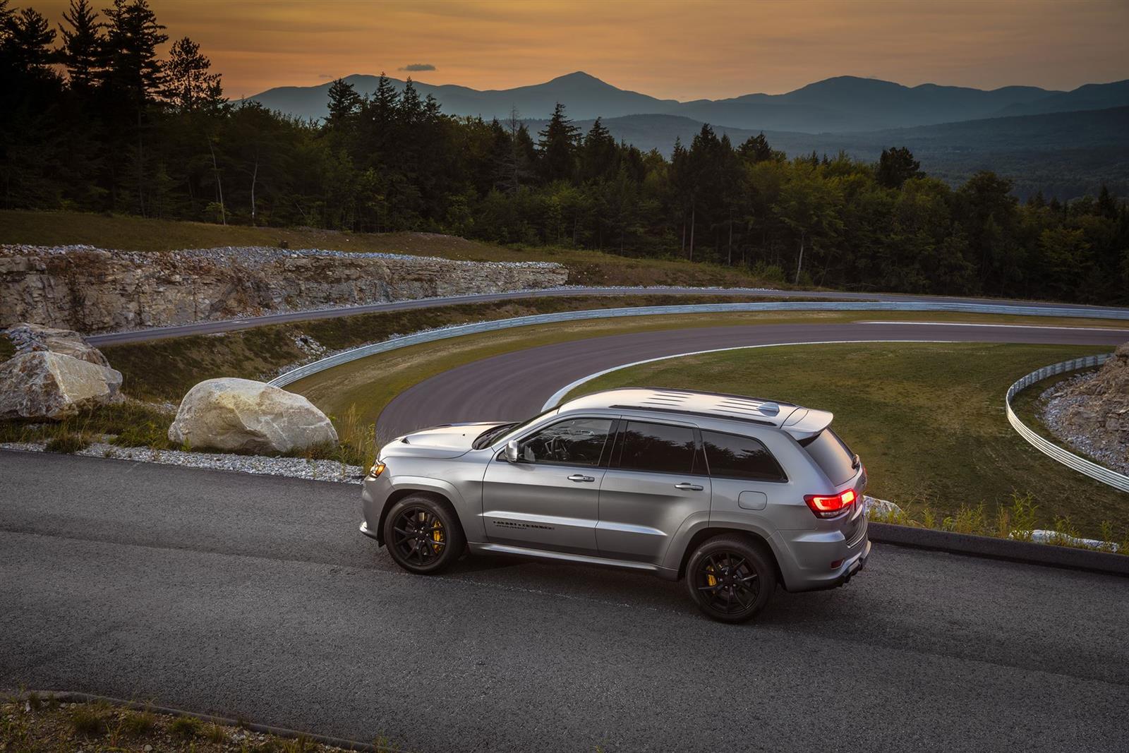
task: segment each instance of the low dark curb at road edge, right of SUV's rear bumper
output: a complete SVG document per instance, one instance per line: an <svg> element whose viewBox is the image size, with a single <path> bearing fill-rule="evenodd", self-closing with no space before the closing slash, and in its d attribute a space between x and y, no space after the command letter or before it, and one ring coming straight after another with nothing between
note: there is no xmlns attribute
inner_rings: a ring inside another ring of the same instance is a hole
<svg viewBox="0 0 1129 753"><path fill-rule="evenodd" d="M952 554L1129 577L1129 557L1124 554L1095 552L1088 549L1074 549L1054 544L1036 544L1030 541L995 539L992 536L973 536L933 528L875 523L874 520L869 524L869 536L870 541L894 544L895 546L929 549Z"/></svg>

